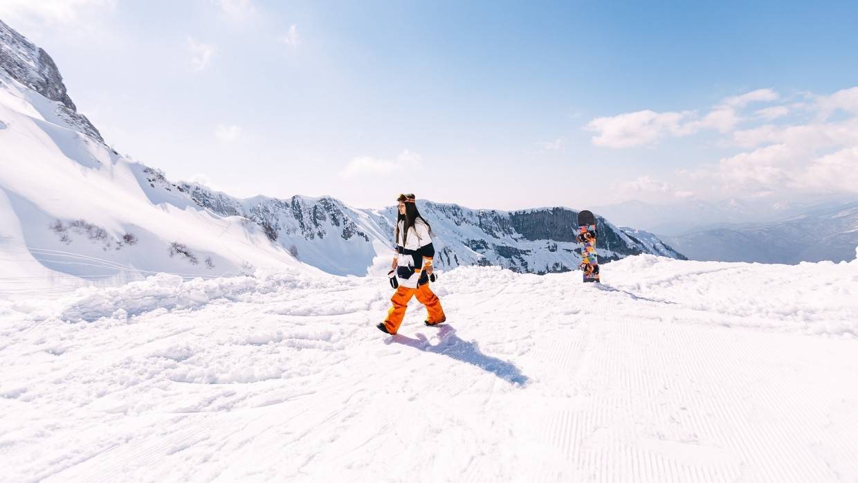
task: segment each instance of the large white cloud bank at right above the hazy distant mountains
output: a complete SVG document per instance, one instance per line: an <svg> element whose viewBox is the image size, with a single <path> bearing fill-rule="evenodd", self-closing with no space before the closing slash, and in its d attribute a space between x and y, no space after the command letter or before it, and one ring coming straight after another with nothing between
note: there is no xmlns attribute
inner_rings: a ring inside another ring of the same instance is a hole
<svg viewBox="0 0 858 483"><path fill-rule="evenodd" d="M810 100L795 102L795 97ZM598 118L593 143L612 148L641 146L668 136L720 130L717 146L734 152L709 166L688 166L671 183L644 176L614 185L622 196L666 200L691 196L826 196L858 194L858 88L830 95L793 94L780 105L764 106L743 117L741 108L778 101L770 89L722 100L703 118L694 112L631 112ZM837 120L831 114L839 112ZM766 124L790 117L791 124ZM794 120L795 119L795 120ZM801 120L803 119L803 121ZM747 129L737 130L745 123Z"/></svg>

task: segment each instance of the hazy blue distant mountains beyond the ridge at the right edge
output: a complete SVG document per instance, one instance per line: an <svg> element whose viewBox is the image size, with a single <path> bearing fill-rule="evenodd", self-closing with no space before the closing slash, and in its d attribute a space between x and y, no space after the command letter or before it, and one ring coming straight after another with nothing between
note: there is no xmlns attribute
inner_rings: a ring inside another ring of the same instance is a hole
<svg viewBox="0 0 858 483"><path fill-rule="evenodd" d="M693 260L800 263L850 260L858 246L858 202L775 223L725 225L662 238Z"/></svg>

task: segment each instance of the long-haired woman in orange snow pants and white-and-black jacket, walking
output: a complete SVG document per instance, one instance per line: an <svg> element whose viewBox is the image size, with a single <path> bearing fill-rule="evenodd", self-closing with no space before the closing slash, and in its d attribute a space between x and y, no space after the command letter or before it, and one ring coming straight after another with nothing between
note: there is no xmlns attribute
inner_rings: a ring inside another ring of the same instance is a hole
<svg viewBox="0 0 858 483"><path fill-rule="evenodd" d="M396 254L390 267L396 270L396 293L390 298L393 307L387 312L387 318L376 327L390 335L396 334L405 317L408 300L417 297L420 304L426 305L428 317L426 325L438 325L447 320L441 301L429 289L429 280L435 280L432 275L432 258L435 248L432 246L432 226L420 216L414 195L400 195L399 215L396 217Z"/></svg>

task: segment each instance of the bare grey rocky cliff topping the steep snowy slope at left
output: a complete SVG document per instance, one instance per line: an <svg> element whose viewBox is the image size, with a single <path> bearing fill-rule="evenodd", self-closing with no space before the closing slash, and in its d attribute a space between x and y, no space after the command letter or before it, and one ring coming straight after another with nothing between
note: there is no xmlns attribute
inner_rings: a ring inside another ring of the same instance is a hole
<svg viewBox="0 0 858 483"><path fill-rule="evenodd" d="M77 112L63 84L57 64L43 49L33 45L20 33L0 21L0 70L26 88L59 103L57 115L78 127L84 134L104 142L99 130Z"/></svg>

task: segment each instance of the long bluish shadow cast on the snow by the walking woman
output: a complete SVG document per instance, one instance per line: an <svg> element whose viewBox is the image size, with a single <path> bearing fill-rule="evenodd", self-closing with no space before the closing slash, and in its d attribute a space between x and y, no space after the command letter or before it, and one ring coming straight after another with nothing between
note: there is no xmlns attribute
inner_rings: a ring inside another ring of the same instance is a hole
<svg viewBox="0 0 858 483"><path fill-rule="evenodd" d="M476 365L483 371L492 372L495 376L510 383L524 385L528 382L528 377L522 374L522 371L516 365L481 353L480 347L477 346L475 341L462 341L456 335L456 329L451 325L445 324L438 328L438 339L440 340L438 344L432 346L429 340L426 339L426 335L418 334L416 339L412 339L402 334L396 334L385 341L385 343L396 342L397 344L420 349L423 352L443 354L447 357Z"/></svg>

